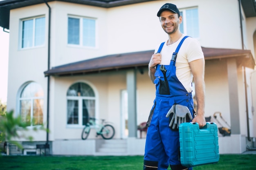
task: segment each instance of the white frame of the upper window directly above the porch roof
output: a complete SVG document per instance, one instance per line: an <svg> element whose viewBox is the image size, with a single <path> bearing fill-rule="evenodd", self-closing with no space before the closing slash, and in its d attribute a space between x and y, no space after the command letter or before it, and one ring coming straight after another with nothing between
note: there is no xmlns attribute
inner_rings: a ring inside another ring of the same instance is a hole
<svg viewBox="0 0 256 170"><path fill-rule="evenodd" d="M68 18L76 18L79 19L79 44L69 44L68 43ZM89 20L94 20L95 21L95 44L94 46L83 46L83 19L89 19ZM96 49L98 47L98 41L97 41L97 18L91 18L91 17L82 17L82 16L76 16L76 15L67 15L67 45L68 46L73 46L73 47L81 47L81 48L88 48L88 49Z"/></svg>

